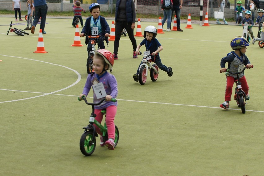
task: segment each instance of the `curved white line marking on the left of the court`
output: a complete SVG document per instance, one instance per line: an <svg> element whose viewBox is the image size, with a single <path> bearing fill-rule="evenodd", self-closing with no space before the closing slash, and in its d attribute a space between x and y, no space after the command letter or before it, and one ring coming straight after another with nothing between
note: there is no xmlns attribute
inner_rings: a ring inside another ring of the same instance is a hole
<svg viewBox="0 0 264 176"><path fill-rule="evenodd" d="M14 58L20 58L20 59L28 59L28 58L23 58L23 57L16 57L16 56L9 56L9 55L2 55L2 56L6 56L6 57L14 57ZM56 91L53 91L53 92L50 92L50 93L44 93L44 95L38 95L38 96L34 96L34 97L29 97L29 98L24 98L24 99L17 99L17 100L11 100L11 101L3 101L3 102L0 102L0 103L7 103L7 102L13 102L13 101L20 101L20 100L26 100L26 99L33 99L33 98L37 98L37 97L42 97L42 96L45 96L45 95L50 95L50 94L53 94L53 93L56 93L56 92L59 92L59 91L62 91L62 90L65 90L65 89L68 89L74 85L76 85L79 81L81 81L81 74L78 73L76 70L73 70L72 68L69 68L69 67L66 67L66 66L63 66L63 65L59 65L59 64L52 64L50 62L45 62L45 61L40 61L40 60L35 60L35 59L28 59L28 60L33 60L33 61L38 61L38 62L43 62L43 63L46 63L46 64L51 64L51 65L56 65L56 66L60 66L60 67L64 67L64 68L67 68L69 70L72 70L73 72L75 72L78 76L78 79L73 83L71 84L70 86L67 86L63 89L60 89L60 90L56 90ZM12 91L15 91L15 90L12 90Z"/></svg>

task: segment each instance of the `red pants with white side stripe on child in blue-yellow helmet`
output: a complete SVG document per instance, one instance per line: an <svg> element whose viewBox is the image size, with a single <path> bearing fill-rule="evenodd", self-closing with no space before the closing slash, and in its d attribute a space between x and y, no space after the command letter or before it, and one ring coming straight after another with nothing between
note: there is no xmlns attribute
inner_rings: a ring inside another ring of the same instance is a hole
<svg viewBox="0 0 264 176"><path fill-rule="evenodd" d="M246 77L243 76L239 80L241 82L242 90L247 95L249 93L249 86L248 86ZM231 77L231 76L227 77L225 101L231 101L231 95L232 95L232 89L233 89L234 82L235 82L235 78L234 77Z"/></svg>

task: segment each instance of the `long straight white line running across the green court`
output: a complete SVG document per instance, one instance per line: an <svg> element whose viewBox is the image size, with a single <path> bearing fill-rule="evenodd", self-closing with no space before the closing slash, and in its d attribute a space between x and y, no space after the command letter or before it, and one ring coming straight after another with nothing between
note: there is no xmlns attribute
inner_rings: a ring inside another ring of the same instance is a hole
<svg viewBox="0 0 264 176"><path fill-rule="evenodd" d="M17 92L27 92L27 93L39 93L39 94L47 94L47 93L42 93L42 92L29 92L29 91L20 91L20 90L8 90L8 89L0 89L0 90L7 90L7 91L17 91ZM54 94L50 93L50 95L62 95L62 96L72 96L72 97L78 97L77 95L64 95L64 94ZM88 97L88 98L93 98L93 97ZM117 99L120 101L130 101L130 102L139 102L139 103L156 103L156 104L168 104L168 105L176 105L176 106L192 106L192 107L200 107L200 108L217 108L217 109L222 109L220 107L211 107L211 106L198 106L198 105L190 105L190 104L174 104L174 103L161 103L161 102L150 102L150 101L138 101L138 100L127 100L127 99ZM5 103L5 102L0 102L0 103ZM230 110L237 110L240 111L240 109L231 109ZM246 110L246 111L251 111L251 112L264 112L264 111L255 111L255 110Z"/></svg>

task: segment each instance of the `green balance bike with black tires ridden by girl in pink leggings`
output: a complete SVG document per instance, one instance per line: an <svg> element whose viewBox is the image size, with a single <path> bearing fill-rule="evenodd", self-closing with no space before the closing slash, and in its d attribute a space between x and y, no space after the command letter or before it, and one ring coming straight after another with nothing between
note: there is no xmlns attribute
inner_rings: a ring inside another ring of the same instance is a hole
<svg viewBox="0 0 264 176"><path fill-rule="evenodd" d="M104 122L104 126L103 126L101 123L95 120L95 117L96 117L95 105L101 104L105 99L102 99L99 103L88 103L85 96L82 96L82 99L85 101L86 104L92 106L92 113L90 115L89 125L82 128L84 129L84 133L81 135L81 139L80 139L80 150L81 150L81 153L84 154L85 156L90 156L95 151L95 147L96 147L95 137L98 137L98 134L95 131L95 126L93 124L97 125L101 129L101 132L103 133L103 142L106 142L108 140L106 122ZM78 100L81 101L79 97L78 97ZM111 101L116 102L117 100L111 99ZM107 112L105 109L103 109L101 113L105 115ZM116 125L115 125L115 128L116 128L116 132L115 132L115 139L114 139L114 142L115 142L114 147L117 146L117 143L119 140L119 131Z"/></svg>

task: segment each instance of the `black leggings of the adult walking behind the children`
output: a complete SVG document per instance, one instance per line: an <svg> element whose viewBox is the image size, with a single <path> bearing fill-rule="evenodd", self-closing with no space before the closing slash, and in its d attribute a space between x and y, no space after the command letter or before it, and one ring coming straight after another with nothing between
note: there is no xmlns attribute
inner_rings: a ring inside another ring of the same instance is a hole
<svg viewBox="0 0 264 176"><path fill-rule="evenodd" d="M114 54L117 55L118 52L118 47L119 47L119 40L121 37L121 33L123 29L126 29L126 32L129 36L129 39L131 40L133 50L136 51L137 49L137 41L134 37L134 29L131 29L132 23L127 23L125 21L117 21L116 22L116 37L115 37L115 42L114 42Z"/></svg>

